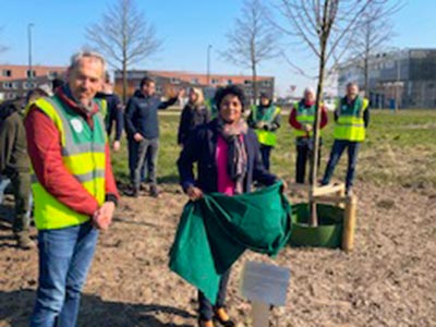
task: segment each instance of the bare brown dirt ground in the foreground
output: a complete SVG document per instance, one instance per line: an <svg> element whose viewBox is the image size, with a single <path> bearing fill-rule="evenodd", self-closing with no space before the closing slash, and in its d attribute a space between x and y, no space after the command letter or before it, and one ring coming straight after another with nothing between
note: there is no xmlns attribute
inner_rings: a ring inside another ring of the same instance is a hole
<svg viewBox="0 0 436 327"><path fill-rule="evenodd" d="M185 197L173 184L162 187L159 199L122 198L113 226L99 239L80 326L196 326L196 292L167 267ZM239 293L249 259L291 270L287 306L272 310L271 326L436 326L436 190L359 185L356 193L351 254L287 247L275 261L243 255L228 292L239 326L251 326L250 303ZM0 326L26 326L37 252L19 251L10 235L10 223L0 221Z"/></svg>

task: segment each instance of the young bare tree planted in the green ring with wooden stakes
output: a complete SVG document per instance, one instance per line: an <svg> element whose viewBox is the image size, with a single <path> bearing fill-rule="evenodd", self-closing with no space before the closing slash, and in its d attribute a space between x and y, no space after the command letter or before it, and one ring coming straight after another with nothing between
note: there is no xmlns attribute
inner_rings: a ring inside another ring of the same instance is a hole
<svg viewBox="0 0 436 327"><path fill-rule="evenodd" d="M282 33L304 44L318 60L318 85L314 122L314 149L311 160L311 218L310 225L317 226L316 204L313 195L317 181L319 148L320 101L325 74L342 57L350 40L349 35L359 26L358 22L371 3L376 0L277 0L274 8L283 24L275 24Z"/></svg>

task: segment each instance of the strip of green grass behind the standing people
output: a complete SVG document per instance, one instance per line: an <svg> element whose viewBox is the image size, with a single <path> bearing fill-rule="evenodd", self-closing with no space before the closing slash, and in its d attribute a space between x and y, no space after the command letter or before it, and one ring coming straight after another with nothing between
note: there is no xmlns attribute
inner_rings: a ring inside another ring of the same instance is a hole
<svg viewBox="0 0 436 327"><path fill-rule="evenodd" d="M177 145L179 112L160 116L159 182L177 183L175 161L180 154ZM324 146L319 178L324 173L332 145L332 116L323 131ZM271 170L289 181L294 180L295 144L288 117L282 117L278 145L272 152ZM373 110L367 140L359 154L356 179L376 185L436 187L436 110ZM125 138L120 153L112 154L116 178L129 183ZM347 155L341 158L335 177L344 179Z"/></svg>

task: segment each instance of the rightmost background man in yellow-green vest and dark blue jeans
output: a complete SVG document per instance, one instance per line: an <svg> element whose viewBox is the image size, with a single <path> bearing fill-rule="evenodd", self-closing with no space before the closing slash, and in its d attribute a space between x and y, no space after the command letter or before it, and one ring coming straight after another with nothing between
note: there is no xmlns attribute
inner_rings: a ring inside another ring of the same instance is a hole
<svg viewBox="0 0 436 327"><path fill-rule="evenodd" d="M340 99L335 110L334 145L330 158L322 181L327 185L334 174L342 153L348 149L348 169L346 193L352 195L358 154L362 142L365 141L366 129L370 124L370 101L359 95L356 83L347 84L347 95Z"/></svg>

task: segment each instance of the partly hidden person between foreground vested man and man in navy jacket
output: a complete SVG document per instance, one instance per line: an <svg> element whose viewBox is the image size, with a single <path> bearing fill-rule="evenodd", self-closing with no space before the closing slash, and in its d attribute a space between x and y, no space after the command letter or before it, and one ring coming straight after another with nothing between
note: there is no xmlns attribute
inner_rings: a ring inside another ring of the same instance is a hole
<svg viewBox="0 0 436 327"><path fill-rule="evenodd" d="M110 82L109 74L106 73L105 82L101 90L96 95L97 99L106 100L107 112L105 117L105 125L108 137L111 137L113 125L116 126L116 135L112 143L114 152L120 150L120 140L123 130L123 105L120 97L113 93L113 85Z"/></svg>

